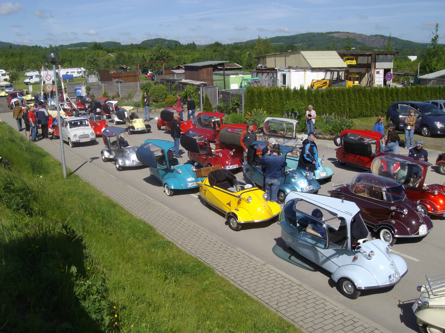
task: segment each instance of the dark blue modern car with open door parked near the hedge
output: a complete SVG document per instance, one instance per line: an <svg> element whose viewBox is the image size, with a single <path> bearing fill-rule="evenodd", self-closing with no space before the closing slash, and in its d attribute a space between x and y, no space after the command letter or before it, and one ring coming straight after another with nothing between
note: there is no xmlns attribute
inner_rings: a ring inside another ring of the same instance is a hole
<svg viewBox="0 0 445 333"><path fill-rule="evenodd" d="M445 134L445 111L431 103L425 102L396 102L392 103L386 113L386 118L394 124L394 128L405 128L405 119L413 109L416 120L416 131L423 136L431 134Z"/></svg>

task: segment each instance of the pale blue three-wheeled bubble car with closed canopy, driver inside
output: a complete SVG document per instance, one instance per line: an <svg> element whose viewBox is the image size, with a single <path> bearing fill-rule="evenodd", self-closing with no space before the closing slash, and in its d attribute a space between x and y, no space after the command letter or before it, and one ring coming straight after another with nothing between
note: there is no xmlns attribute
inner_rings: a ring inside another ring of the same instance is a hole
<svg viewBox="0 0 445 333"><path fill-rule="evenodd" d="M359 212L354 202L292 191L279 218L287 246L331 272L351 299L395 285L408 272L405 260L390 254L391 245L371 240Z"/></svg>

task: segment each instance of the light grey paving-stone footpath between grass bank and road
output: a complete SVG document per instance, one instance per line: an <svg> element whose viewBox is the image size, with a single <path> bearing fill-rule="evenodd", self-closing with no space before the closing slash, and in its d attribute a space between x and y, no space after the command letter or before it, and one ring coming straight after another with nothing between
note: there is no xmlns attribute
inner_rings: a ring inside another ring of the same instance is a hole
<svg viewBox="0 0 445 333"><path fill-rule="evenodd" d="M3 120L15 128L15 119L6 116ZM21 133L24 134L24 131ZM61 161L58 140L41 140L37 145ZM153 198L120 182L69 150L65 150L65 161L66 166L70 170L76 170L78 176L154 226L170 241L213 267L218 274L303 332L390 333L267 262L242 249L229 246L208 230L170 211Z"/></svg>

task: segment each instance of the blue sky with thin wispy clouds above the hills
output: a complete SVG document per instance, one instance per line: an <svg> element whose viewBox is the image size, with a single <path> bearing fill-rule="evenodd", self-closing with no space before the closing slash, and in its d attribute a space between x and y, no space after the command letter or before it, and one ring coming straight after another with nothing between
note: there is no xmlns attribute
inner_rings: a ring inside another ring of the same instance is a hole
<svg viewBox="0 0 445 333"><path fill-rule="evenodd" d="M348 31L429 43L438 23L444 43L444 14L444 0L0 0L0 40L48 46L109 40L137 44L161 37L208 44Z"/></svg>

